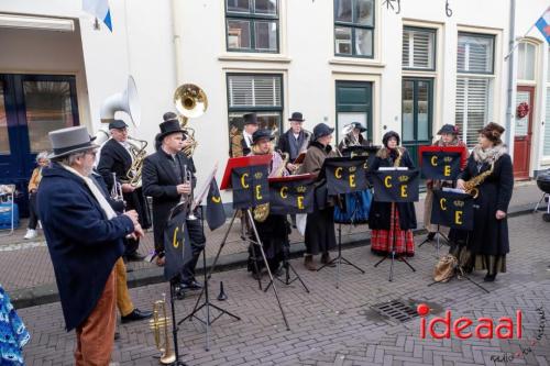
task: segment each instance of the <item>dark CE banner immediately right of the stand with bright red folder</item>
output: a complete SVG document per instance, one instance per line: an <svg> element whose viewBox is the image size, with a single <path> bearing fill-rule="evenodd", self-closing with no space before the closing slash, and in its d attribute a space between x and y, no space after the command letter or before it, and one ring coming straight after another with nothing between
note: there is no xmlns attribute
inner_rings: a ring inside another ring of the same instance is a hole
<svg viewBox="0 0 550 366"><path fill-rule="evenodd" d="M314 180L270 180L270 212L274 214L314 211Z"/></svg>

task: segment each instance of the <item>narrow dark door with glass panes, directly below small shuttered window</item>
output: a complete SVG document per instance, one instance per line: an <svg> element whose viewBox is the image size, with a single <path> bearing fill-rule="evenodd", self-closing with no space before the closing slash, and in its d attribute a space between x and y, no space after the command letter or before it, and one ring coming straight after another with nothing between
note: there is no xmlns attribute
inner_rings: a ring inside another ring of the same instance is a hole
<svg viewBox="0 0 550 366"><path fill-rule="evenodd" d="M431 144L433 79L404 78L402 144L418 166L418 146Z"/></svg>

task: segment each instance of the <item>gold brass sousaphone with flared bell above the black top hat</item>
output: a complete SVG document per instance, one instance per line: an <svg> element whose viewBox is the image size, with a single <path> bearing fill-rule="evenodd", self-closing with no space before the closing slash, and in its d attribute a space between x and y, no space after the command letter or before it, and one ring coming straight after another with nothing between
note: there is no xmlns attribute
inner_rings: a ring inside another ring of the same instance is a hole
<svg viewBox="0 0 550 366"><path fill-rule="evenodd" d="M191 140L191 144L184 147L183 152L187 157L191 157L197 147L197 141L195 140L195 130L187 126L187 122L189 119L198 118L206 112L208 98L205 90L195 84L184 84L174 91L174 104L179 114L182 130L185 130L187 138Z"/></svg>

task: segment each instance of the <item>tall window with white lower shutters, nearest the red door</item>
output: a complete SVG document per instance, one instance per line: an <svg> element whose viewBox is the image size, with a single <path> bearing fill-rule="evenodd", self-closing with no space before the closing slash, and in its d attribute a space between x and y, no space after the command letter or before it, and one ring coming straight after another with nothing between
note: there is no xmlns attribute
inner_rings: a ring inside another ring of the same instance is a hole
<svg viewBox="0 0 550 366"><path fill-rule="evenodd" d="M494 42L492 35L459 33L455 124L469 147L477 143L477 131L488 122Z"/></svg>

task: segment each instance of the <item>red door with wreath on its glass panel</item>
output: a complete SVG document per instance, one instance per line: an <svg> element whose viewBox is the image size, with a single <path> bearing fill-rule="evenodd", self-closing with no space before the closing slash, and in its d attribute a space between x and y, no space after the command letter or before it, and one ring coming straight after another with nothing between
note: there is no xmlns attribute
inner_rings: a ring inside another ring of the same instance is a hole
<svg viewBox="0 0 550 366"><path fill-rule="evenodd" d="M521 118L516 115L514 135L514 177L516 179L529 179L534 96L534 87L517 88L516 106L525 103L529 107L529 112Z"/></svg>

